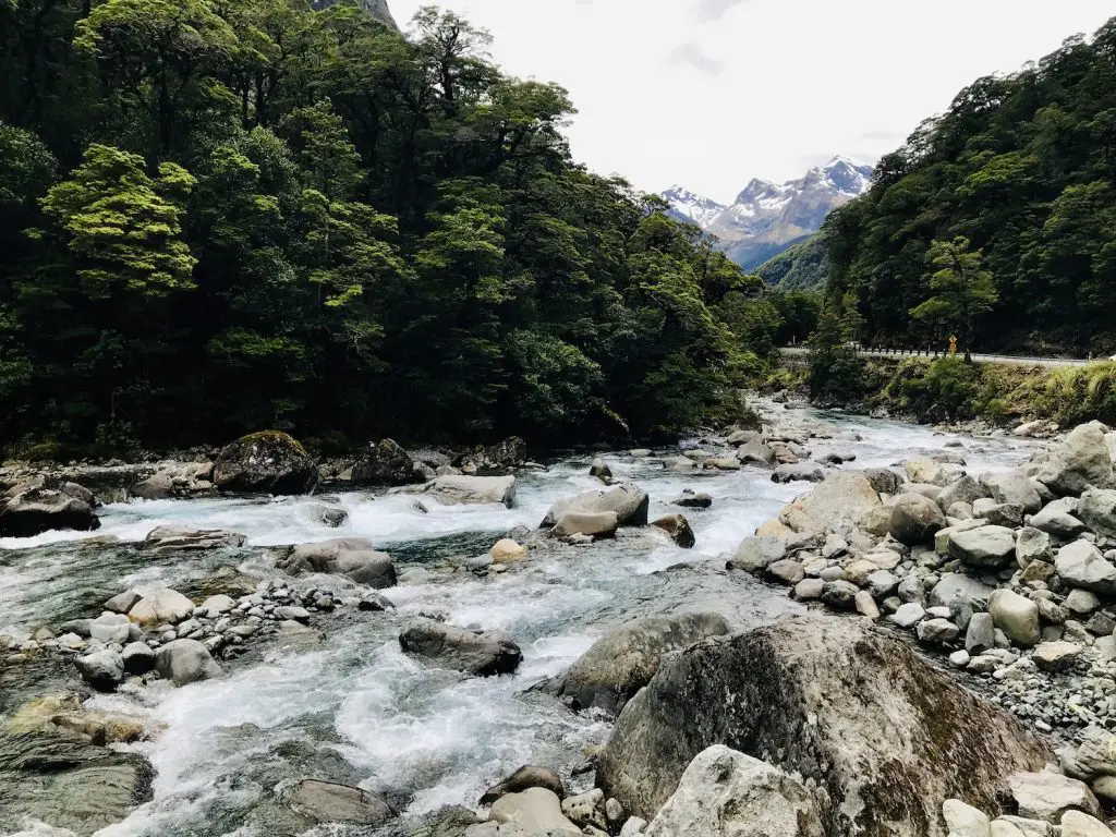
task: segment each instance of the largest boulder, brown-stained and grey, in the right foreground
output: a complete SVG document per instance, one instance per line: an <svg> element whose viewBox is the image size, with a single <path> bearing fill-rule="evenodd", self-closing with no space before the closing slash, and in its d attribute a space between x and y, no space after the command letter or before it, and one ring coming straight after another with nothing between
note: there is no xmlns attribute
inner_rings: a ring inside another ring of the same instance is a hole
<svg viewBox="0 0 1116 837"><path fill-rule="evenodd" d="M945 799L997 810L1050 751L1013 718L863 624L805 617L666 662L617 719L597 783L654 817L713 744L816 782L828 837L944 837Z"/></svg>

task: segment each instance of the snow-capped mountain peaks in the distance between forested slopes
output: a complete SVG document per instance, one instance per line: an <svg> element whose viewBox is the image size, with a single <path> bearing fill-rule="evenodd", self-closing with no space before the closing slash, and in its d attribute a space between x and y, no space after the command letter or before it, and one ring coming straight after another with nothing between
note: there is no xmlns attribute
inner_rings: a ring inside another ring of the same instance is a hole
<svg viewBox="0 0 1116 837"><path fill-rule="evenodd" d="M671 214L716 235L745 269L762 264L819 229L830 211L868 191L873 166L836 156L787 183L753 180L730 206L674 186L662 196Z"/></svg>

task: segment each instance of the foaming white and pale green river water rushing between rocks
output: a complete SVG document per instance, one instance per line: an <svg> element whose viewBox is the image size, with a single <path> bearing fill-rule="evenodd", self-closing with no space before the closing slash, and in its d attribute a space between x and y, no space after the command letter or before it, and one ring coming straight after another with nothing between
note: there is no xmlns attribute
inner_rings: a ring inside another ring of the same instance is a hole
<svg viewBox="0 0 1116 837"><path fill-rule="evenodd" d="M955 439L911 425L827 417L863 440L814 441L815 456L855 452L856 468L892 464ZM1013 465L1027 455L1018 442L964 441L970 472ZM96 708L140 713L161 730L134 745L157 770L154 800L100 834L279 834L276 790L300 778L358 783L385 795L404 819L446 805L471 807L520 764L568 773L583 760L584 747L604 742L606 719L574 714L525 690L567 667L610 625L647 613L714 608L744 628L798 607L780 590L716 568L808 485L778 485L750 469L690 475L666 471L656 459L604 459L617 479L648 491L652 518L679 511L668 501L684 489L712 494L712 509L685 510L696 548L664 546L635 532L588 548L532 554L525 566L483 578L439 569L446 559L484 552L516 527L536 527L558 498L598 488L585 475L588 459L521 475L511 510L427 499L429 513L422 513L411 496L343 493L349 517L340 529L316 521L312 498L140 501L104 509L96 535L122 541L141 540L166 522L243 532L250 547L366 537L395 557L402 584L386 591L395 613L316 617L327 638L311 650L275 647L228 664L219 680L95 698ZM0 632L16 635L95 615L100 602L121 590L185 584L220 565L276 574L273 558L261 549L153 560L127 543L83 547L73 532L0 540L0 547L9 550L0 550ZM311 580L339 588L336 579ZM396 637L401 623L419 613L509 632L523 650L520 671L477 679L407 657Z"/></svg>

